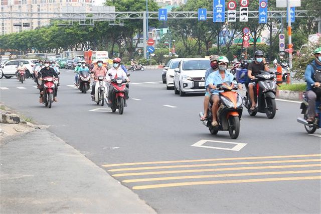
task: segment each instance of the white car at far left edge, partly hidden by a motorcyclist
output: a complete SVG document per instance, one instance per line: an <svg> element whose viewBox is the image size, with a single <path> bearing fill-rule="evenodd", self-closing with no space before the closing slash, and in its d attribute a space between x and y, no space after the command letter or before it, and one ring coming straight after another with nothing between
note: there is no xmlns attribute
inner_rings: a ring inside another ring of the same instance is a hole
<svg viewBox="0 0 321 214"><path fill-rule="evenodd" d="M3 65L0 78L6 77L7 79L10 79L11 77L15 76L19 62L23 62L24 66L26 66L26 78L29 78L29 76L33 72L32 67L35 66L34 61L32 59L15 59L6 62Z"/></svg>

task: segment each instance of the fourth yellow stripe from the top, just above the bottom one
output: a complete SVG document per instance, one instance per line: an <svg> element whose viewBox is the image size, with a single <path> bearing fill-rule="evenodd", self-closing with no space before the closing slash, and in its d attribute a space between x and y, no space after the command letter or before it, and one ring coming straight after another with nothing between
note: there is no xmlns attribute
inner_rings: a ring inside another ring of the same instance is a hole
<svg viewBox="0 0 321 214"><path fill-rule="evenodd" d="M175 176L175 177L158 177L158 178L141 178L123 180L124 183L145 182L145 181L159 181L159 180L179 180L192 178L216 178L216 177L237 177L237 176L251 176L251 175L278 175L278 174L300 174L300 173L317 173L321 170L299 170L299 171L273 171L273 172L248 172L235 174L214 174L214 175L191 175L191 176Z"/></svg>

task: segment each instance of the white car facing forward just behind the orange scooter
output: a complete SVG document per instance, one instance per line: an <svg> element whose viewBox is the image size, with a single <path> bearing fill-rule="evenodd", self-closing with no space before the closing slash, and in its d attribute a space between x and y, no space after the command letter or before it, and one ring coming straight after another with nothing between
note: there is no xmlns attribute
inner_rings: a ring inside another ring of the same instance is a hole
<svg viewBox="0 0 321 214"><path fill-rule="evenodd" d="M205 72L210 67L206 58L183 59L174 74L174 92L185 96L188 92L205 92Z"/></svg>

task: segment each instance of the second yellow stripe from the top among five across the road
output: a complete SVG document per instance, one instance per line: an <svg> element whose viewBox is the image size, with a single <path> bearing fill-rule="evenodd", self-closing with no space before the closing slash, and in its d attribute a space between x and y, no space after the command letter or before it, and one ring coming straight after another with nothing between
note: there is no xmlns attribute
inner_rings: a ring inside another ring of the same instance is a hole
<svg viewBox="0 0 321 214"><path fill-rule="evenodd" d="M247 165L247 164L266 164L266 163L298 163L298 162L321 162L321 159L249 161L249 162L229 162L229 163L206 163L206 164L193 164L193 165L148 166L148 167L110 169L110 170L108 170L108 172L134 171L134 170L147 170L147 169L189 168L189 167L204 167L204 166L230 166L230 165Z"/></svg>

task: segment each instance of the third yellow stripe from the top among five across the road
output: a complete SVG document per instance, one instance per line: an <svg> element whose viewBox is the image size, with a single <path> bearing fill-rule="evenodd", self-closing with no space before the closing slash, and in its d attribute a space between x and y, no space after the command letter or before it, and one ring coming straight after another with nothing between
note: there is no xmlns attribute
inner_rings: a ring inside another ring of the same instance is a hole
<svg viewBox="0 0 321 214"><path fill-rule="evenodd" d="M155 172L132 172L113 174L113 177L122 176L136 176L136 175L161 175L161 174L175 174L187 172L216 172L216 171L233 171L233 170L248 170L248 169L280 169L280 168L302 168L302 167L316 167L321 164L301 164L301 165L279 165L279 166L247 166L247 167L229 167L216 169L189 169L189 170L171 170L171 171L155 171Z"/></svg>

